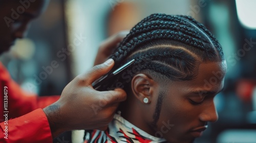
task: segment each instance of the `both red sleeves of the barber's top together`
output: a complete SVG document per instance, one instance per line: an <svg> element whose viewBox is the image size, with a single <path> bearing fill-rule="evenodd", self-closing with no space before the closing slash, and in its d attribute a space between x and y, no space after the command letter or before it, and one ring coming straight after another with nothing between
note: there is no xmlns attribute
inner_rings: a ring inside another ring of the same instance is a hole
<svg viewBox="0 0 256 143"><path fill-rule="evenodd" d="M59 97L38 97L25 92L11 79L0 62L0 142L52 142L47 117L38 108L56 102ZM4 138L6 127L8 139Z"/></svg>

